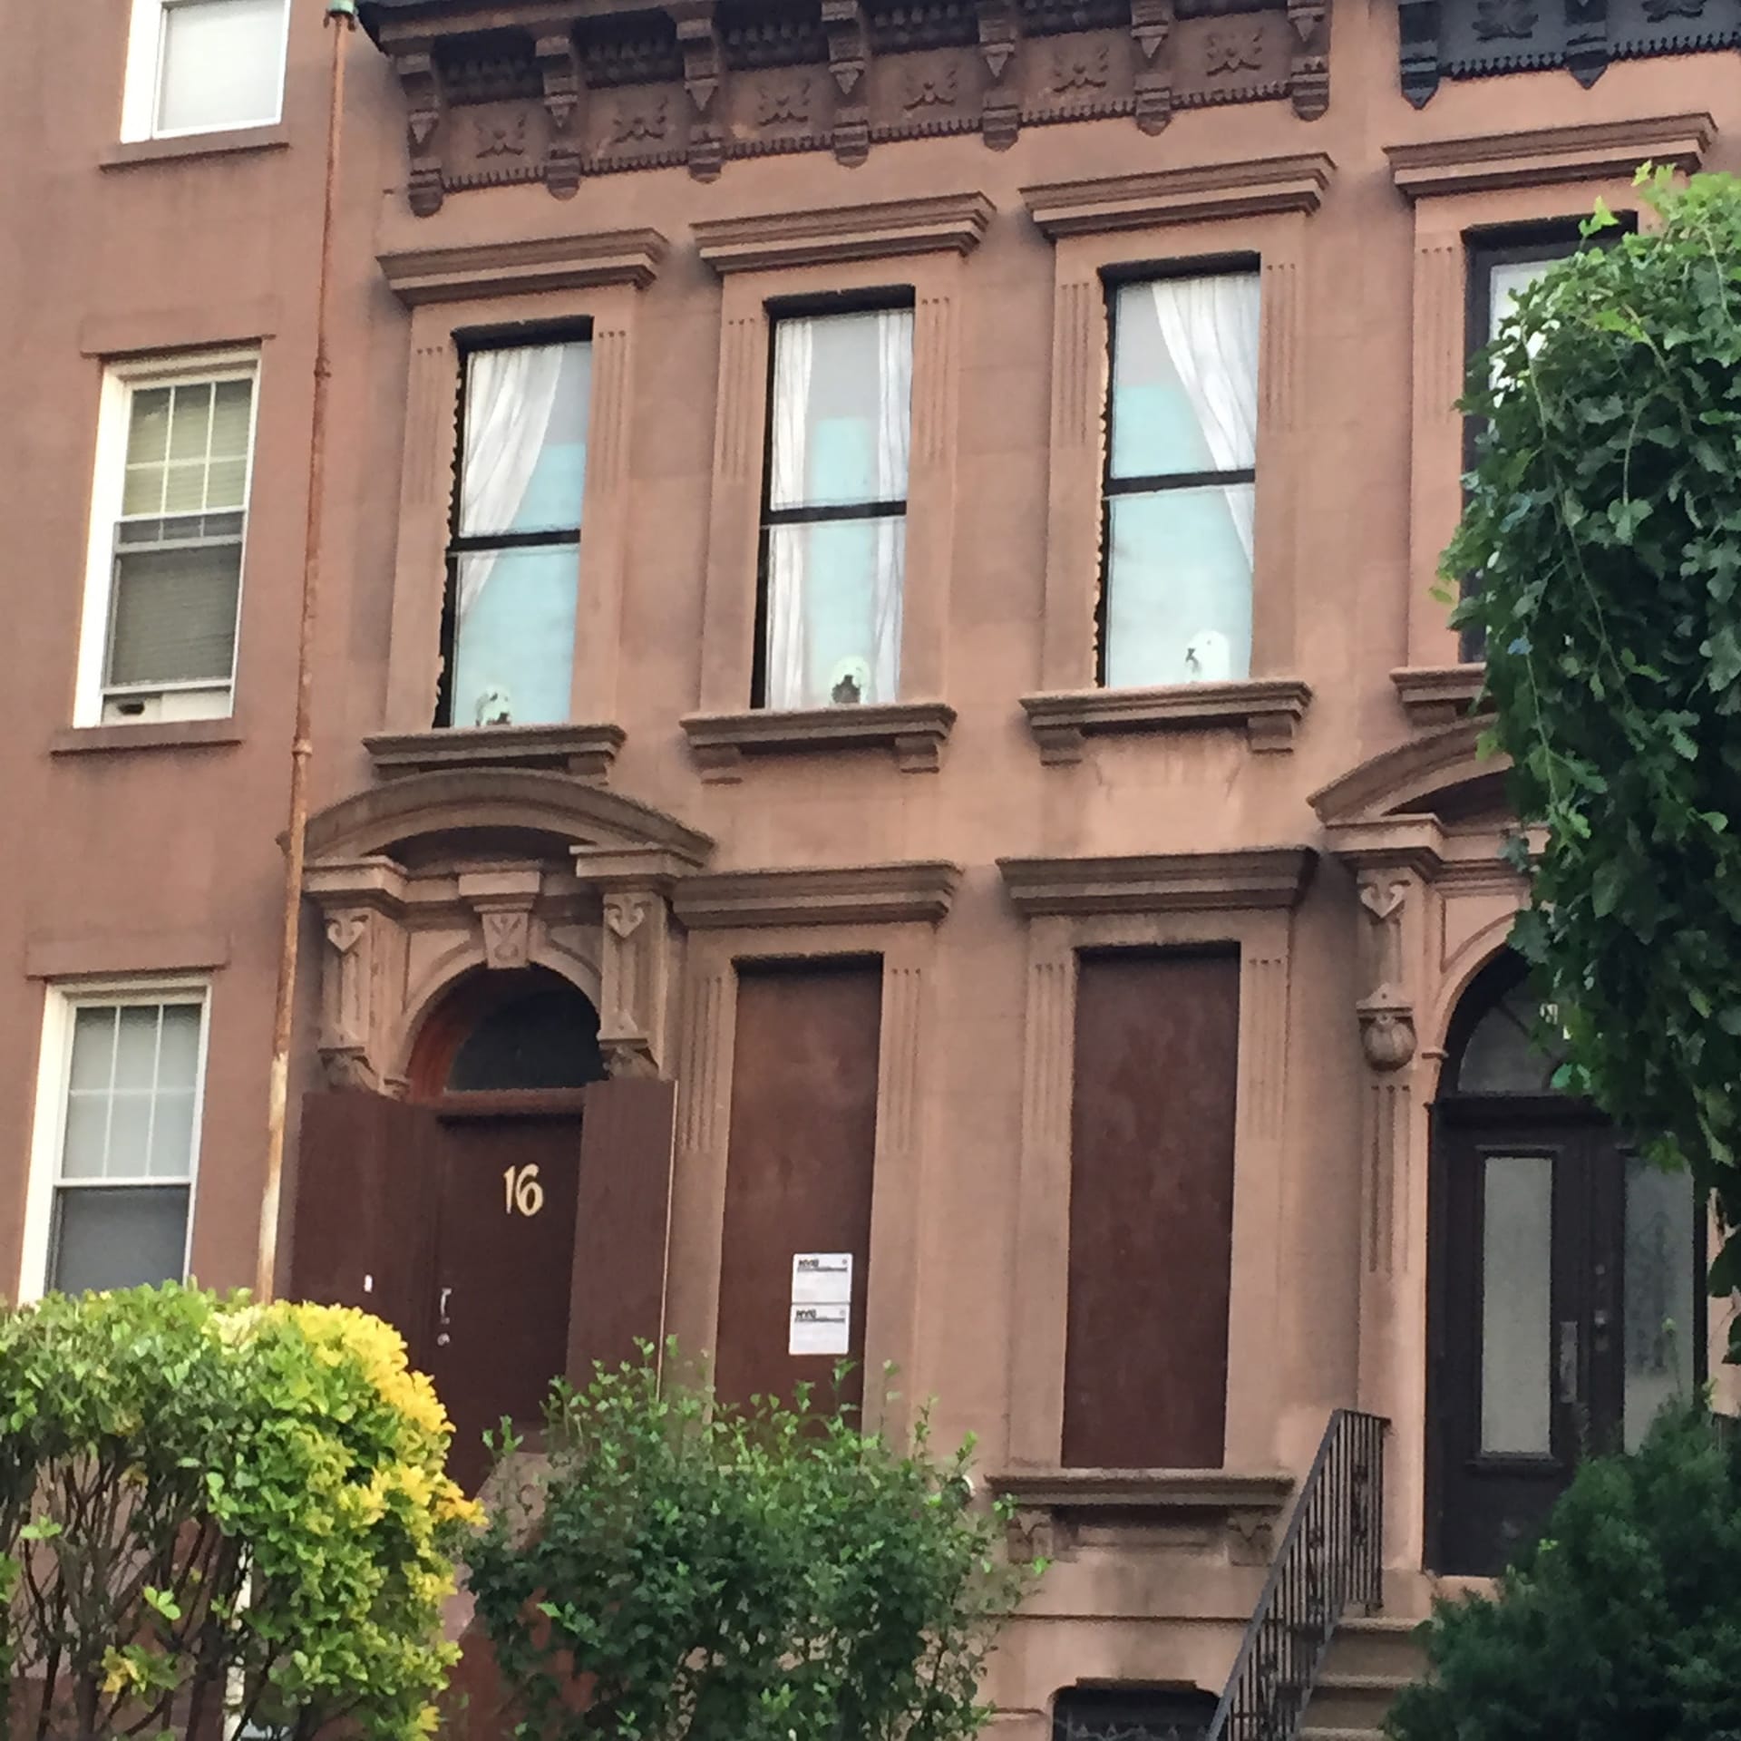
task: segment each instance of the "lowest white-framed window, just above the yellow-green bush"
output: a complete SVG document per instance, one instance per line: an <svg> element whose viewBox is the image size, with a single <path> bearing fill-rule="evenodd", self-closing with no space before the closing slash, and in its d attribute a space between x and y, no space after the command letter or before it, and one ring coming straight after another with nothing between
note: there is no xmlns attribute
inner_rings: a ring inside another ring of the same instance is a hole
<svg viewBox="0 0 1741 1741"><path fill-rule="evenodd" d="M49 987L19 1299L186 1274L207 1008L202 980Z"/></svg>

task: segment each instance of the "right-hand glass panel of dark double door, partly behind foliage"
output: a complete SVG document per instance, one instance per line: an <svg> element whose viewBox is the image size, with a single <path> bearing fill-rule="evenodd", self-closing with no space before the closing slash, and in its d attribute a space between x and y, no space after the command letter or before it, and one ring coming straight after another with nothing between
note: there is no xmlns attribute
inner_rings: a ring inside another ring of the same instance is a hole
<svg viewBox="0 0 1741 1741"><path fill-rule="evenodd" d="M1663 1403L1692 1395L1694 1191L1685 1173L1626 1160L1626 1449Z"/></svg>

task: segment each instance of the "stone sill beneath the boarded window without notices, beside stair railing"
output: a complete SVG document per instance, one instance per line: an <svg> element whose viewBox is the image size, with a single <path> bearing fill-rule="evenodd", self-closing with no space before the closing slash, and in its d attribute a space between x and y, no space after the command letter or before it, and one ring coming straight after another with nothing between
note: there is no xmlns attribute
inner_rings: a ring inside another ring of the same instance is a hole
<svg viewBox="0 0 1741 1741"><path fill-rule="evenodd" d="M1219 1522L1234 1565L1269 1563L1294 1485L1281 1469L1024 1469L991 1478L991 1490L1015 1508L1010 1548L1020 1558L1069 1560L1085 1543Z"/></svg>

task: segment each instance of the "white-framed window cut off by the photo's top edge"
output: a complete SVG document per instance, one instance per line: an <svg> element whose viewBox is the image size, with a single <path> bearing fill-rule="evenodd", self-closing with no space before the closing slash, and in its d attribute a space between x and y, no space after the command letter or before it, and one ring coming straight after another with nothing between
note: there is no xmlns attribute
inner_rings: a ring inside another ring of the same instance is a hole
<svg viewBox="0 0 1741 1741"><path fill-rule="evenodd" d="M122 139L270 127L289 0L132 0Z"/></svg>

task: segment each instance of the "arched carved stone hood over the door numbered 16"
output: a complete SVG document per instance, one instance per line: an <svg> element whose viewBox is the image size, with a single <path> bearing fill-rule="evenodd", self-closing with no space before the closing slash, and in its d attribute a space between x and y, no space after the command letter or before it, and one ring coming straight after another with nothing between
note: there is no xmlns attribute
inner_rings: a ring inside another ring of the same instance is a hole
<svg viewBox="0 0 1741 1741"><path fill-rule="evenodd" d="M477 968L547 966L599 1008L613 1074L667 1059L672 888L709 836L561 773L388 780L308 820L326 931L320 1057L336 1085L404 1092L423 1015Z"/></svg>

